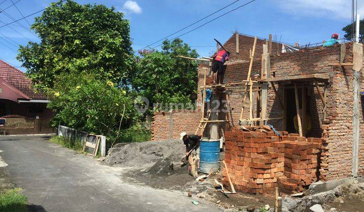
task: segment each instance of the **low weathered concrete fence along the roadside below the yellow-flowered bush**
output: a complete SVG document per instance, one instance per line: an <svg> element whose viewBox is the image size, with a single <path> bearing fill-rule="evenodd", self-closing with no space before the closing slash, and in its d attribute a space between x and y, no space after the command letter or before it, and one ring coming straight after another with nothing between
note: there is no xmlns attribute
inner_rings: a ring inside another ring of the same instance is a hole
<svg viewBox="0 0 364 212"><path fill-rule="evenodd" d="M106 137L104 135L89 134L87 132L76 130L76 129L73 129L70 127L65 127L62 125L58 126L57 135L65 137L71 141L80 140L82 144L84 144L86 138L87 138L88 142L93 143L93 142L96 142L97 137L100 137L101 138L101 142L100 142L101 156L103 156L103 157L106 156Z"/></svg>

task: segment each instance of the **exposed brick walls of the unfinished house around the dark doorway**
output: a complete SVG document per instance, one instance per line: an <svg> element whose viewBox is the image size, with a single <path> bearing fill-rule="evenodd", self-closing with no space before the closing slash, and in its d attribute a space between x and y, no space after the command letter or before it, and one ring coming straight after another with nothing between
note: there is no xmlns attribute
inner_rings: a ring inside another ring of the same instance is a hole
<svg viewBox="0 0 364 212"><path fill-rule="evenodd" d="M233 37L232 37L233 39ZM323 103L315 87L307 88L310 95L308 111L311 116L312 130L308 137L324 137L323 146L323 167L321 168L322 180L334 180L350 177L352 174L352 146L353 146L353 70L352 67L329 66L329 63L338 63L340 60L340 45L320 47L314 49L300 50L297 52L279 54L270 57L272 77L297 76L316 73L330 73L330 82L327 84L327 115L323 120ZM352 43L346 43L345 63L352 62ZM249 63L235 63L226 65L223 83L241 82L246 79ZM259 73L261 61L253 63L253 74ZM361 70L361 75L363 70ZM363 77L360 78L364 83ZM201 78L199 85L202 86ZM285 85L287 88L289 85ZM279 96L285 101L294 99L285 98L284 86L276 85ZM321 87L321 92L324 88ZM364 91L361 88L361 91ZM201 93L201 89L199 89ZM230 95L233 118L230 124L238 125L242 107L242 91L233 91ZM201 102L202 98L199 98ZM223 98L222 98L223 99ZM360 99L360 134L364 132L364 99ZM224 114L220 115L225 117ZM283 116L277 96L270 88L267 99L267 116L269 118ZM248 112L244 114L247 118ZM269 121L276 129L283 130L282 120ZM364 136L359 142L359 175L364 174Z"/></svg>

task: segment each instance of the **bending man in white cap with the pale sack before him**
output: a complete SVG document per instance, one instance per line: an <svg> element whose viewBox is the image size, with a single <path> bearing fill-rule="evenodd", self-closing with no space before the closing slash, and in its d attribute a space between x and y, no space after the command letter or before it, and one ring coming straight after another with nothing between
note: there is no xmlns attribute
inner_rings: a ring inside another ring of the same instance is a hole
<svg viewBox="0 0 364 212"><path fill-rule="evenodd" d="M180 134L180 140L186 145L186 159L189 162L189 174L193 177L198 176L198 165L200 161L200 137L195 134Z"/></svg>

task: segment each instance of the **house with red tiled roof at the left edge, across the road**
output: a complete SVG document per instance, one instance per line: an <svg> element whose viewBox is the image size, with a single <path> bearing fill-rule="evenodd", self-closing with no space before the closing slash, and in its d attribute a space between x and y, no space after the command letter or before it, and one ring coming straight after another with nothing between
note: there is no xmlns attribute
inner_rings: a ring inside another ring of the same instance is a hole
<svg viewBox="0 0 364 212"><path fill-rule="evenodd" d="M53 113L47 108L49 100L35 92L25 74L0 60L0 134L51 133L49 121Z"/></svg>

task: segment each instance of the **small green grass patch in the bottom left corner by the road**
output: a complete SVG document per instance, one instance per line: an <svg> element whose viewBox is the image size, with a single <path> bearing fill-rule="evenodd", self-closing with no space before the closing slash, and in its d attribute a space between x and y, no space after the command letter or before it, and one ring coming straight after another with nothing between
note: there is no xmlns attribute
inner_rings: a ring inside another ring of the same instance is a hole
<svg viewBox="0 0 364 212"><path fill-rule="evenodd" d="M28 198L20 191L14 188L0 192L0 211L28 211Z"/></svg>

